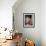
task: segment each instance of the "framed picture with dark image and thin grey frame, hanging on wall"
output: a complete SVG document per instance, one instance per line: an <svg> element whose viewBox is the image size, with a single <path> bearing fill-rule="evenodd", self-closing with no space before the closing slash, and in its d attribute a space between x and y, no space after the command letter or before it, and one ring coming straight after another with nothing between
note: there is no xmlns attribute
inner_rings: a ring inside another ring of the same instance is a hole
<svg viewBox="0 0 46 46"><path fill-rule="evenodd" d="M23 13L23 26L27 28L35 27L35 13Z"/></svg>

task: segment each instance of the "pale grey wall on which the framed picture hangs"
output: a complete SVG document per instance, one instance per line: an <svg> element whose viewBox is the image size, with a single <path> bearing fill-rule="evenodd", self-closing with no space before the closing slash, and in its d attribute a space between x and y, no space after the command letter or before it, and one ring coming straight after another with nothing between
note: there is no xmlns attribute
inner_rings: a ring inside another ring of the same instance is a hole
<svg viewBox="0 0 46 46"><path fill-rule="evenodd" d="M19 2L19 1L18 1ZM16 5L14 5L16 6ZM40 0L23 0L17 7L13 7L15 29L23 33L24 39L31 39L36 46L41 46L40 34L40 16L41 2ZM23 27L23 13L35 13L35 28Z"/></svg>

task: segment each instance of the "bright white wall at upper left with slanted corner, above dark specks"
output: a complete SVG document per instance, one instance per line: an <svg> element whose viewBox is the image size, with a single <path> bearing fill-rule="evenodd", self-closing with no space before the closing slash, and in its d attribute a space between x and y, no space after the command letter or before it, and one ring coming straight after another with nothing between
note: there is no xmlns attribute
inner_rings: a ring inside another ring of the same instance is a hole
<svg viewBox="0 0 46 46"><path fill-rule="evenodd" d="M12 29L12 6L16 0L0 0L0 27Z"/></svg>

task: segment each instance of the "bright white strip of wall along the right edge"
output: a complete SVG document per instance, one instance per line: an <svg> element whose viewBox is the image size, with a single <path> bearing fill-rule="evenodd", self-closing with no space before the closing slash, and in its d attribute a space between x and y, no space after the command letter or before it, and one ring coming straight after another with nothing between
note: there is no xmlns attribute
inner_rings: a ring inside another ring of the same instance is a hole
<svg viewBox="0 0 46 46"><path fill-rule="evenodd" d="M40 20L42 46L46 46L46 0L41 1Z"/></svg>

